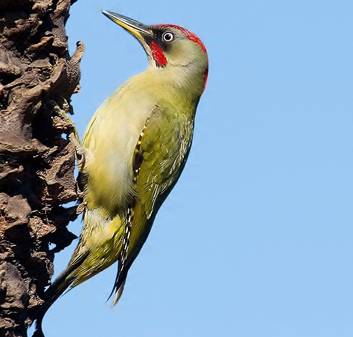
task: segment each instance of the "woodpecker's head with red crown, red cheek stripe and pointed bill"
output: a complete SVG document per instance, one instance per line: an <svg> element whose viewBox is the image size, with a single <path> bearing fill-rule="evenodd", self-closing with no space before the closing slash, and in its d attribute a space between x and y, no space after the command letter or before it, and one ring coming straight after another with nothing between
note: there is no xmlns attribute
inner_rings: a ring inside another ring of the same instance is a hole
<svg viewBox="0 0 353 337"><path fill-rule="evenodd" d="M124 15L103 10L110 20L129 31L141 43L149 60L150 69L163 73L184 73L183 81L193 77L206 86L208 57L200 38L191 31L175 24L147 26ZM198 80L199 79L199 80Z"/></svg>

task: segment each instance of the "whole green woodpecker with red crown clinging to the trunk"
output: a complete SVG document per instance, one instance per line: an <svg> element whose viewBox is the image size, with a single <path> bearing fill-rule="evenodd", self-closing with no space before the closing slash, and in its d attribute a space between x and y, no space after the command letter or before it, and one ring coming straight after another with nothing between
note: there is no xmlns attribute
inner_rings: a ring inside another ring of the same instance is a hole
<svg viewBox="0 0 353 337"><path fill-rule="evenodd" d="M78 180L84 226L66 270L45 292L37 317L66 290L118 261L113 304L154 217L187 161L208 57L201 40L173 24L147 26L103 11L141 43L148 66L114 92L92 117L82 141ZM113 294L112 292L112 294Z"/></svg>

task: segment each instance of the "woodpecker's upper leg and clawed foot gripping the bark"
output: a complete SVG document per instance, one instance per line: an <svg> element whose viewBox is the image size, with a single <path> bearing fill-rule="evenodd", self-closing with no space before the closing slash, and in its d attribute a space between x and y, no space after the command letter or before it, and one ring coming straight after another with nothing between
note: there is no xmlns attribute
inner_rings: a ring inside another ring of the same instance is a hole
<svg viewBox="0 0 353 337"><path fill-rule="evenodd" d="M62 121L68 126L67 129L69 129L69 132L67 132L66 134L69 138L69 141L71 141L71 143L73 143L73 145L75 146L75 157L77 160L77 166L78 169L81 169L82 166L84 166L85 164L85 149L80 143L75 124L68 116L68 113L71 113L71 115L73 114L70 104L66 101L66 99L64 99L64 97L59 97L59 99L62 101L61 104L58 104L56 101L52 100L48 101L47 103L50 104L50 106L52 107L52 112L58 115L62 119Z"/></svg>

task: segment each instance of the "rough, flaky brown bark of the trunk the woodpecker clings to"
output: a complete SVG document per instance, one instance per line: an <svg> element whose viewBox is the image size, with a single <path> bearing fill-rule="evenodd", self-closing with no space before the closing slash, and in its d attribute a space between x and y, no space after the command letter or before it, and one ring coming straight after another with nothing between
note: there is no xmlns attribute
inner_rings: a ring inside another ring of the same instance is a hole
<svg viewBox="0 0 353 337"><path fill-rule="evenodd" d="M0 0L0 336L27 336L54 253L75 238L71 126L48 105L79 87L83 46L69 57L64 30L73 2Z"/></svg>

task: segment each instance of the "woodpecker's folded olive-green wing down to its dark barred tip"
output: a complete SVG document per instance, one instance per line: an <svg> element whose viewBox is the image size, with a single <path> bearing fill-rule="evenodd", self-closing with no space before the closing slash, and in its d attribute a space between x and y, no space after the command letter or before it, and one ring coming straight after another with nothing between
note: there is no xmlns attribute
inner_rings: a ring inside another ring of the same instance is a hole
<svg viewBox="0 0 353 337"><path fill-rule="evenodd" d="M193 127L194 111L180 114L170 104L161 103L152 110L141 130L133 158L135 198L119 258L113 303L122 294L127 271L145 243L159 207L185 166Z"/></svg>

